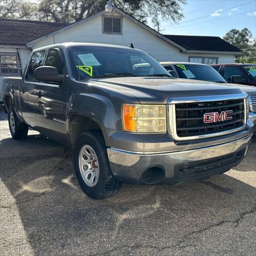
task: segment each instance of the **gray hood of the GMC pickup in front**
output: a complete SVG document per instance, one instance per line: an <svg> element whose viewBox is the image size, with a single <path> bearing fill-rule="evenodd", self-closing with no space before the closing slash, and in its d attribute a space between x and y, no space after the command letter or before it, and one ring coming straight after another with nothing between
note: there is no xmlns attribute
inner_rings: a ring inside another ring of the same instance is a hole
<svg viewBox="0 0 256 256"><path fill-rule="evenodd" d="M169 98L241 93L234 86L169 77L91 78L87 82L126 92L140 103L166 103Z"/></svg>

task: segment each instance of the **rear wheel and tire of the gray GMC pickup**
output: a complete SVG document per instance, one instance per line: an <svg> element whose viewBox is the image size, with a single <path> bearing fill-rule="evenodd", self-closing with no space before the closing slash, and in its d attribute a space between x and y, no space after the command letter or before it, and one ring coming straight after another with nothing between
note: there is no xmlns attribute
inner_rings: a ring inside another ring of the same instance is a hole
<svg viewBox="0 0 256 256"><path fill-rule="evenodd" d="M28 126L25 123L20 122L13 105L10 106L8 110L8 122L9 129L14 140L22 140L27 137Z"/></svg>

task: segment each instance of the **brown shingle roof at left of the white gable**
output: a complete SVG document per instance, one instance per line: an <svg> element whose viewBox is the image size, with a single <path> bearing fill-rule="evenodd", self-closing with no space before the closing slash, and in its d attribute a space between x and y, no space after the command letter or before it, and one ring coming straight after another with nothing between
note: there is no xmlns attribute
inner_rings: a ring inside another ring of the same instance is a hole
<svg viewBox="0 0 256 256"><path fill-rule="evenodd" d="M66 22L0 19L0 45L26 45L38 37L68 26Z"/></svg>

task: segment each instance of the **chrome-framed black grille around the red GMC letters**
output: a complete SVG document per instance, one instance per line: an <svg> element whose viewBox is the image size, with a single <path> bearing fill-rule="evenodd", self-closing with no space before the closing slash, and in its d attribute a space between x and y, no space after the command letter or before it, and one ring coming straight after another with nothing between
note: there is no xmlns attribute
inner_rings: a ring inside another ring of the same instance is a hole
<svg viewBox="0 0 256 256"><path fill-rule="evenodd" d="M246 127L245 93L172 98L169 103L169 133L174 140L185 141L226 135ZM232 110L232 119L204 123L205 114Z"/></svg>

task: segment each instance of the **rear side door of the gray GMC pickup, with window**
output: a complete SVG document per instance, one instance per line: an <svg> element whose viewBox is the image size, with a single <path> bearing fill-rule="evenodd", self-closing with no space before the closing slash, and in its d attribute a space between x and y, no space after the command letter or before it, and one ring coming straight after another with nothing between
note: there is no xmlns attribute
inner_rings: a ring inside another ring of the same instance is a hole
<svg viewBox="0 0 256 256"><path fill-rule="evenodd" d="M44 51L35 52L28 64L26 69L26 74L23 77L20 84L20 108L23 118L26 123L31 127L35 127L36 123L36 113L35 113L35 89L36 83L33 73L34 70L41 66L44 59Z"/></svg>

